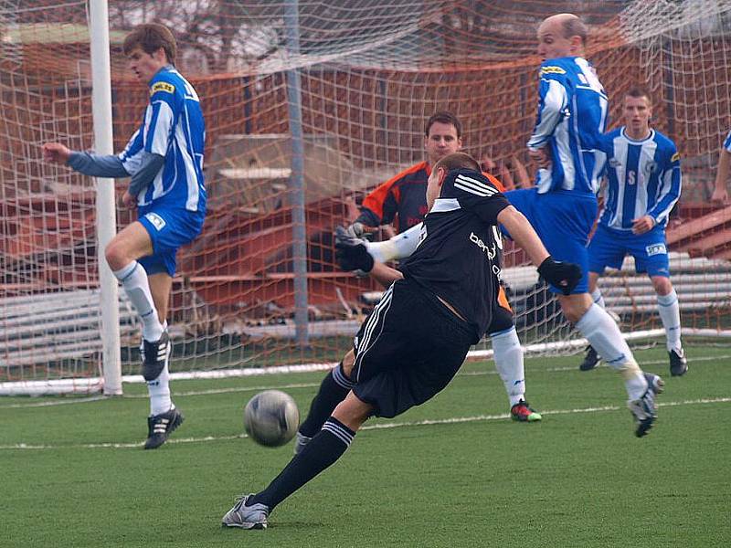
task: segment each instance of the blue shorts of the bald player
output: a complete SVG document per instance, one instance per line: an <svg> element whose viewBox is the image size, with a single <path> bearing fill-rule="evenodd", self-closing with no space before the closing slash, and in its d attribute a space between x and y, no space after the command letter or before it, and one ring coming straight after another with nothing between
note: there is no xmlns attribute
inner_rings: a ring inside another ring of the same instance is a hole
<svg viewBox="0 0 731 548"><path fill-rule="evenodd" d="M551 257L581 267L581 280L571 293L587 293L587 243L597 218L596 196L560 190L538 194L536 188L511 190L504 195L533 225ZM503 232L507 234L504 227ZM548 287L554 293L563 294L553 285Z"/></svg>

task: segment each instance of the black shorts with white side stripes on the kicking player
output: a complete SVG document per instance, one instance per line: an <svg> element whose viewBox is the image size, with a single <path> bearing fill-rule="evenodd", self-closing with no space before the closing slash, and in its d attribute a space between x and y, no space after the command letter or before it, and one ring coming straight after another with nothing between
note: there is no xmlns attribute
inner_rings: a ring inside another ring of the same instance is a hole
<svg viewBox="0 0 731 548"><path fill-rule="evenodd" d="M465 321L400 279L355 337L353 392L376 408L376 416L400 415L450 384L473 340Z"/></svg>

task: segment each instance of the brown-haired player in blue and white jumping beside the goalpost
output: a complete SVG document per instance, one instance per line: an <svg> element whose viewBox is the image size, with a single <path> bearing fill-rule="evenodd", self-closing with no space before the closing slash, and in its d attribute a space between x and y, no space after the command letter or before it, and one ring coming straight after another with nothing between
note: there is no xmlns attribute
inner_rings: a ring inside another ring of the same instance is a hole
<svg viewBox="0 0 731 548"><path fill-rule="evenodd" d="M114 276L140 316L143 377L150 395L145 449L158 448L183 422L170 397L172 351L167 310L175 254L192 242L206 217L203 152L206 127L193 86L175 69L175 37L163 25L137 26L124 40L129 68L149 89L140 128L118 155L43 145L44 157L95 177L132 177L122 203L138 218L104 249Z"/></svg>

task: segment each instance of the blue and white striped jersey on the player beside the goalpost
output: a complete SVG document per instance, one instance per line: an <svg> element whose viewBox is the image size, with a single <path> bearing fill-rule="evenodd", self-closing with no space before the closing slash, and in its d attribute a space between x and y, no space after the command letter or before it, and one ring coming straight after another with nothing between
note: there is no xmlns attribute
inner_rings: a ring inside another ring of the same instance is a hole
<svg viewBox="0 0 731 548"><path fill-rule="evenodd" d="M140 129L119 155L127 173L140 168L142 153L164 156L152 184L137 195L137 204L180 207L206 212L203 149L206 126L196 90L171 65L150 80L150 102Z"/></svg>

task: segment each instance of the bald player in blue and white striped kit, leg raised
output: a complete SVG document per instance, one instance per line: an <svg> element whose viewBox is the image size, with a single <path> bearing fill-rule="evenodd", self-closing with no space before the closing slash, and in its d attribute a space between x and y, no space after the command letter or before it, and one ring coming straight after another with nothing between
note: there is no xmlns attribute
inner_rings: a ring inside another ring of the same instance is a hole
<svg viewBox="0 0 731 548"><path fill-rule="evenodd" d="M608 99L584 56L588 28L573 14L546 18L538 27L539 103L528 153L538 163L535 187L505 193L535 227L556 258L577 263L583 278L569 295L556 293L568 321L624 378L635 434L648 433L657 417L662 379L644 374L617 324L588 292L587 243L597 217L599 174L606 155L599 140L607 125Z"/></svg>

